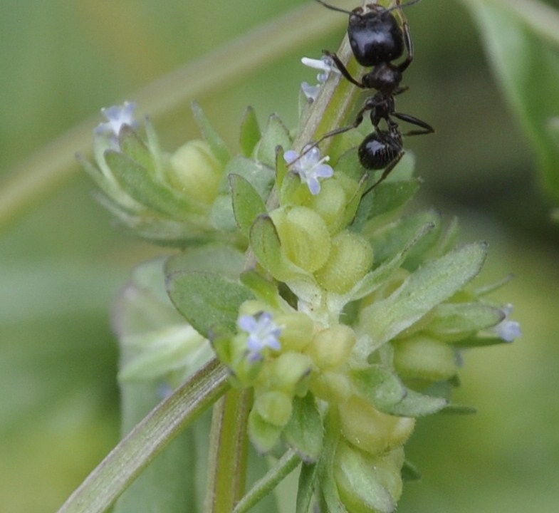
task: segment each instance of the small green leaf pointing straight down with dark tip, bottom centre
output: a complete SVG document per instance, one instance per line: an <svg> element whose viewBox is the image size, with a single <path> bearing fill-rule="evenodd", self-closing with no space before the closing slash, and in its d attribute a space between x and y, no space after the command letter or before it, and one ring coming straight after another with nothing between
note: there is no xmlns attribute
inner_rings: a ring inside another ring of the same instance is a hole
<svg viewBox="0 0 559 513"><path fill-rule="evenodd" d="M306 463L318 460L322 450L323 425L311 393L304 398L293 398L293 412L283 434L301 460Z"/></svg>

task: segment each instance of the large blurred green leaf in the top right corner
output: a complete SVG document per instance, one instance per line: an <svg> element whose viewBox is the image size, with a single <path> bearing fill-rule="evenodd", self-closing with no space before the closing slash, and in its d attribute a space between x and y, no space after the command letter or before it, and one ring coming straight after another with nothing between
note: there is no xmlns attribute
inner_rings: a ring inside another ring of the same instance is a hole
<svg viewBox="0 0 559 513"><path fill-rule="evenodd" d="M548 190L559 199L559 11L538 1L468 0L491 68L536 150Z"/></svg>

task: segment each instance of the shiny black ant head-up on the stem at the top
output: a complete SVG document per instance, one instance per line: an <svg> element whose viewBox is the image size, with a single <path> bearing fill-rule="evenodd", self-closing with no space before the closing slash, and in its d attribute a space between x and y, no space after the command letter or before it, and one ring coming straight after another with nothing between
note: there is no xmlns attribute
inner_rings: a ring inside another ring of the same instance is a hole
<svg viewBox="0 0 559 513"><path fill-rule="evenodd" d="M380 4L367 4L365 9L357 7L352 11L332 6L323 0L316 1L328 9L349 15L348 38L355 60L361 66L372 68L372 70L365 73L361 81L358 81L353 78L335 53L330 51L323 51L323 53L332 58L340 73L348 81L361 89L376 89L377 93L365 100L365 104L351 125L326 133L313 146L333 135L357 128L362 123L365 113L370 111L370 119L375 131L365 137L357 153L361 165L365 169L384 169L384 172L380 179L365 191L364 195L366 195L385 180L404 155L403 135L434 133L434 128L428 123L412 115L395 111L395 95L403 93L407 89L407 87L400 86L400 82L402 74L413 61L414 46L407 21L403 19L402 26L400 26L392 11L400 10L402 6L417 4L419 0L411 0L403 5L400 0L396 0L396 5L390 8ZM403 56L404 47L407 57L399 64L393 63ZM402 134L398 124L392 119L393 117L419 128ZM379 128L381 120L385 120L387 130Z"/></svg>

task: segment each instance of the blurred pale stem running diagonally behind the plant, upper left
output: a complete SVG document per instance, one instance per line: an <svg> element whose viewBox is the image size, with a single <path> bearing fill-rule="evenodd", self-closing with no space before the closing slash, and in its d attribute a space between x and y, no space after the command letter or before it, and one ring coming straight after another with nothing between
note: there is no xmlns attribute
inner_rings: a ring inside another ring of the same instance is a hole
<svg viewBox="0 0 559 513"><path fill-rule="evenodd" d="M259 67L342 23L342 16L332 16L326 9L308 2L169 73L132 93L130 98L139 103L143 112L150 113L157 120L193 98L223 93L234 83L247 80L247 76ZM293 29L303 26L305 30ZM75 175L79 169L75 152L91 155L92 129L98 122L98 116L86 120L6 173L8 178L0 184L0 229L9 226L26 209L48 197Z"/></svg>

